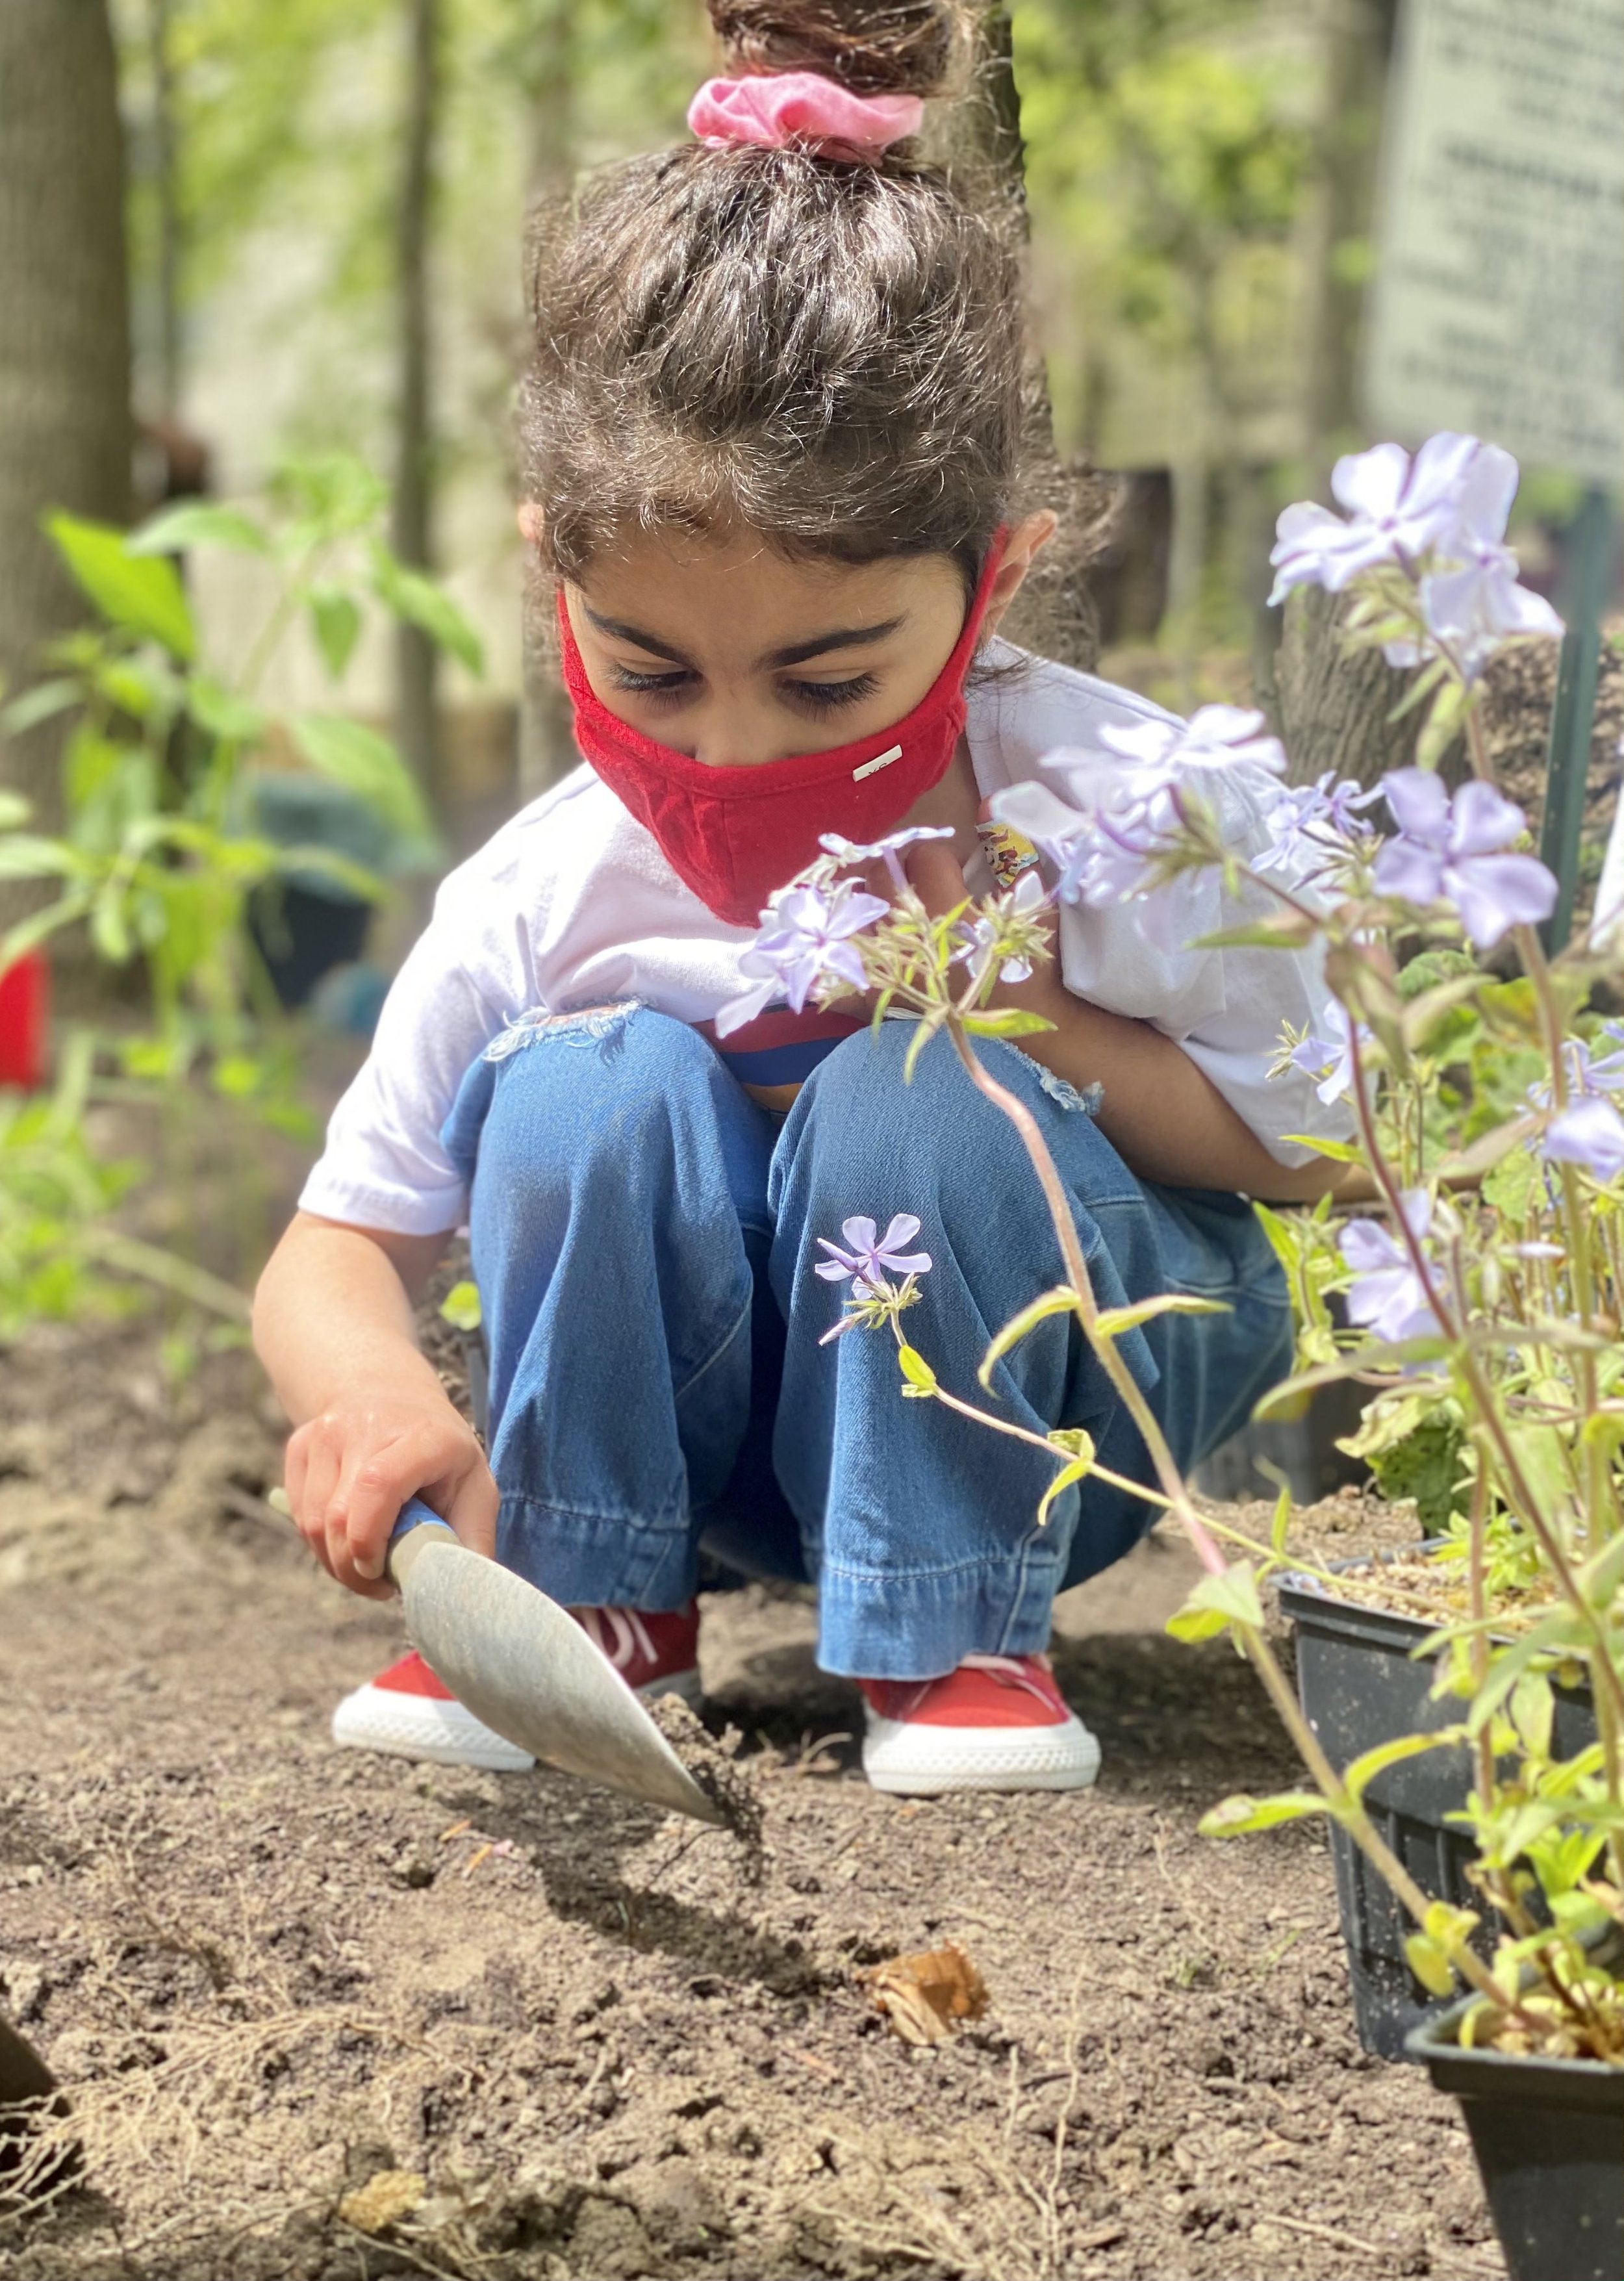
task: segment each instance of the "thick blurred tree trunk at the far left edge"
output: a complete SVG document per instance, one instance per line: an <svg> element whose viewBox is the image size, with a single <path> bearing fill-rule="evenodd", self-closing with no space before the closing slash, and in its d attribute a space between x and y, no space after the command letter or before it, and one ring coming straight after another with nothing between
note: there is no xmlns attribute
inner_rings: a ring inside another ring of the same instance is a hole
<svg viewBox="0 0 1624 2281"><path fill-rule="evenodd" d="M130 511L123 128L107 0L0 7L0 677L16 696L89 609L39 518ZM62 817L57 723L9 739L0 776ZM0 926L36 903L0 887Z"/></svg>

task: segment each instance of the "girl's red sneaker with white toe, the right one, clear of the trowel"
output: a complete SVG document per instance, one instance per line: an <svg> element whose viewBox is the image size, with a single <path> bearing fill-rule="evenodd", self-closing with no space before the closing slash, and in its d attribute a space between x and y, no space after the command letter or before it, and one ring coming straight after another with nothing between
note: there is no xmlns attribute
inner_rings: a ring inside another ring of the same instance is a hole
<svg viewBox="0 0 1624 2281"><path fill-rule="evenodd" d="M1099 1743L1047 1656L965 1656L944 1679L860 1679L876 1791L1086 1791Z"/></svg>

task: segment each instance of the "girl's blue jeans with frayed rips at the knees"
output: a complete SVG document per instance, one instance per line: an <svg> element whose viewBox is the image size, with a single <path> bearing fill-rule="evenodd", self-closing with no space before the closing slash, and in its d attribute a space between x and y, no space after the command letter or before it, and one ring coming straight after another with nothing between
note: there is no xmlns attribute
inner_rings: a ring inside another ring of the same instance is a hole
<svg viewBox="0 0 1624 2281"><path fill-rule="evenodd" d="M497 1556L575 1606L677 1608L700 1551L812 1578L819 1663L928 1679L967 1654L1031 1654L1065 1585L1120 1560L1154 1510L1088 1480L1045 1528L1042 1451L903 1401L887 1330L833 1346L844 1284L817 1236L867 1213L921 1220L933 1268L906 1316L942 1387L983 1401L992 1334L1061 1282L1038 1179L999 1111L910 1022L844 1040L789 1115L757 1109L684 1022L643 1006L527 1017L472 1065L445 1127L470 1186L490 1355ZM1004 1042L988 1068L1038 1115L1095 1291L1223 1300L1118 1346L1193 1464L1291 1357L1284 1277L1234 1195L1136 1179L1065 1086ZM1083 1426L1150 1480L1138 1435L1067 1316L992 1378L999 1417Z"/></svg>

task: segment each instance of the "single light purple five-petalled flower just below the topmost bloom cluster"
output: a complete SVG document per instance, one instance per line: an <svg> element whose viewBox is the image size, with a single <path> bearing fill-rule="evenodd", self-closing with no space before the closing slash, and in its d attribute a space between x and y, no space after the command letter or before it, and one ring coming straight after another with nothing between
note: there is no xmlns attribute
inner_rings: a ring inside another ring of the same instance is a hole
<svg viewBox="0 0 1624 2281"><path fill-rule="evenodd" d="M1375 858L1378 894L1421 908L1453 903L1480 951L1551 915L1556 878L1535 855L1503 853L1526 819L1492 785L1462 785L1451 801L1428 769L1394 769L1382 792L1398 837Z"/></svg>

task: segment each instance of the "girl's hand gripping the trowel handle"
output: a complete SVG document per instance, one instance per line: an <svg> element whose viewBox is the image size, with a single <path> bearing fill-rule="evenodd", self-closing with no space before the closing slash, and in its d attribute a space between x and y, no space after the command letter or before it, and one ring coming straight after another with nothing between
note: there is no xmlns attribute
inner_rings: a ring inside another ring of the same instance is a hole
<svg viewBox="0 0 1624 2281"><path fill-rule="evenodd" d="M470 1551L495 1553L497 1485L445 1398L342 1394L292 1435L285 1478L301 1537L363 1599L392 1597L383 1560L408 1496L422 1496Z"/></svg>

